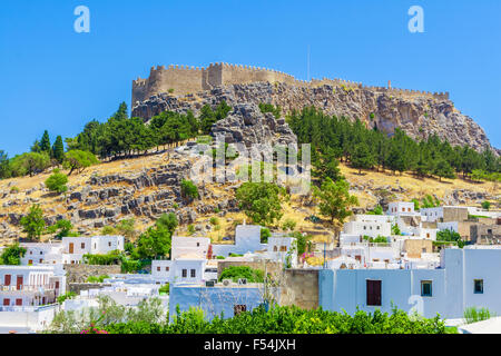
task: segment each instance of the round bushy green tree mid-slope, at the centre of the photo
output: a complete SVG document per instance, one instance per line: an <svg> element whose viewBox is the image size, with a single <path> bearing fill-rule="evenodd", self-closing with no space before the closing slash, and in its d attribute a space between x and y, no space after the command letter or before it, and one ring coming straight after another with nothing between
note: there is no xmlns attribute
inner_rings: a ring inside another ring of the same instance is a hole
<svg viewBox="0 0 501 356"><path fill-rule="evenodd" d="M238 208L255 224L274 224L283 216L281 196L284 190L272 182L244 182L235 194Z"/></svg>

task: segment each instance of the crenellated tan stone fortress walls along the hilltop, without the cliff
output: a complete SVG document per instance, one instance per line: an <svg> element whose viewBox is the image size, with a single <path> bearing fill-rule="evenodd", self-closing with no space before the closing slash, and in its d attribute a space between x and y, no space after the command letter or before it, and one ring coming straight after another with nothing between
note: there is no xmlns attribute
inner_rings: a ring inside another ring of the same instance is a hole
<svg viewBox="0 0 501 356"><path fill-rule="evenodd" d="M395 96L419 96L449 100L449 92L428 92L418 90L395 89L387 87L366 87L360 82L342 79L312 79L298 80L291 75L250 66L210 63L206 68L188 66L151 67L149 78L132 80L132 108L137 101L145 101L149 97L161 92L170 92L175 96L195 93L203 90L212 90L218 86L246 85L253 82L283 82L295 87L321 87L330 85L343 88L360 88L374 91L384 91Z"/></svg>

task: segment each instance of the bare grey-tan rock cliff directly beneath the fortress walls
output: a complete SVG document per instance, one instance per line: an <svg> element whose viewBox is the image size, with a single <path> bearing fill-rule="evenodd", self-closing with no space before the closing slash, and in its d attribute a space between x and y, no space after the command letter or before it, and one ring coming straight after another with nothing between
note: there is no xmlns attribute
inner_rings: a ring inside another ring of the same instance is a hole
<svg viewBox="0 0 501 356"><path fill-rule="evenodd" d="M400 127L414 139L436 134L442 139L448 139L451 145L468 145L479 151L485 146L491 147L484 130L470 117L461 113L451 100L424 95L394 96L383 89L365 87L345 88L324 85L308 88L278 82L274 85L255 82L217 87L186 97L159 93L136 105L132 108L132 116L148 120L165 110L178 112L191 110L198 113L204 105L215 107L222 100L234 108L244 103L268 102L281 106L283 112L315 106L326 115L344 116L352 120L358 118L369 127L376 126L387 134L393 134L394 129ZM254 112L253 119L248 116L249 112L254 111L240 109L233 116L246 117L246 125L262 117L261 112ZM230 119L227 123L235 123L235 120ZM223 131L219 126L218 129ZM266 132L263 134L266 135ZM250 138L250 140L255 139L257 137ZM494 151L500 154L497 149Z"/></svg>

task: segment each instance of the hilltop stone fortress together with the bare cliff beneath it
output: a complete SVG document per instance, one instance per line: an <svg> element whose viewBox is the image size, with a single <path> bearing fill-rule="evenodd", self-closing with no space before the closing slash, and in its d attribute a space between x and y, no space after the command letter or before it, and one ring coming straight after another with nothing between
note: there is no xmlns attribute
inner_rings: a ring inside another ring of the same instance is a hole
<svg viewBox="0 0 501 356"><path fill-rule="evenodd" d="M284 115L313 106L328 116L358 118L389 135L401 128L414 139L436 134L478 151L491 147L485 131L454 107L449 92L397 89L390 81L386 87L327 78L305 81L276 70L227 63L153 67L149 78L132 81L131 116L148 121L163 111L199 115L204 105L214 108L223 100L230 107L267 102L279 106Z"/></svg>

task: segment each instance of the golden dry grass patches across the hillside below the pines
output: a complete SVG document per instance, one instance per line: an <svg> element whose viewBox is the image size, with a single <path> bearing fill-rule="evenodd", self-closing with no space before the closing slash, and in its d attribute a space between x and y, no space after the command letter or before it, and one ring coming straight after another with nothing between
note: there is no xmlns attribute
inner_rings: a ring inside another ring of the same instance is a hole
<svg viewBox="0 0 501 356"><path fill-rule="evenodd" d="M114 161L114 162L104 162L101 165L91 167L86 169L80 175L72 175L69 177L69 186L73 187L75 190L79 190L79 187L82 187L86 185L86 181L89 179L89 177L94 174L105 176L110 174L127 174L127 172L136 172L144 169L151 169L161 165L165 165L168 161L167 154L160 154L160 155L154 155L148 157L140 157L140 158L134 158L134 159L126 159L120 161ZM403 174L402 176L396 175L393 176L391 172L362 172L362 175L358 175L358 171L356 169L352 169L350 167L346 167L344 165L341 165L342 174L347 178L347 180L352 185L357 186L367 186L370 185L372 188L377 187L402 187L404 189L404 192L396 192L394 194L394 199L405 199L410 200L412 198L422 198L425 195L434 195L442 199L443 197L450 195L452 190L454 189L466 189L471 191L481 191L487 192L489 195L499 195L499 189L494 184L485 182L485 184L472 184L469 181L464 181L462 179L454 179L454 180L448 180L444 179L443 181L439 181L436 179L415 179L411 175ZM18 214L26 214L33 202L40 202L42 209L46 211L47 215L56 215L56 214L65 214L67 211L65 205L66 201L61 199L61 197L53 196L51 194L42 192L41 190L35 190L30 195L27 195L27 190L32 189L33 187L40 187L40 185L43 184L43 181L49 177L50 174L42 174L38 175L36 177L24 177L24 178L12 178L0 181L0 197L2 196L1 192L9 192L12 187L18 187L19 192L18 194L8 194L4 198L0 199L0 214L9 214L9 212L18 212ZM228 185L217 185L214 184L212 186L207 187L215 196L217 197L228 197L232 195L232 191L228 190ZM151 191L157 190L157 187L149 187L144 188L140 191L137 191L136 195L146 195L150 194ZM360 206L365 207L372 207L376 204L376 198L372 194L372 191L367 190L356 190L353 191L360 200ZM7 201L16 200L17 204L3 207L3 204ZM217 201L213 200L205 200L204 204L217 204ZM466 201L466 204L472 204L472 201ZM86 208L90 209L92 206L87 206ZM326 236L332 235L332 228L323 227L320 225L314 225L310 221L305 221L304 218L306 216L310 216L312 214L315 214L315 209L311 207L305 207L301 202L301 197L292 197L288 202L284 205L284 217L282 220L285 219L293 219L297 222L296 228L310 231L312 234L318 234L316 240L325 240ZM202 224L202 225L209 225L209 218L214 216L200 216L198 215L197 220L195 225ZM119 216L118 219L125 218L126 216ZM218 217L219 219L219 228L213 228L209 233L209 236L214 240L220 240L225 236L233 236L234 233L234 222L235 221L243 221L245 219L245 215L242 212L228 212L225 216ZM4 222L7 218L0 218L0 224ZM139 230L146 229L147 226L153 224L149 219L145 219L145 217L138 217L137 219L137 227ZM92 233L97 233L98 230L95 230ZM187 234L187 227L180 227L179 234L185 235ZM325 234L325 235L322 235ZM1 238L1 237L0 237ZM1 241L1 240L0 240ZM8 243L6 240L2 241L3 244Z"/></svg>

